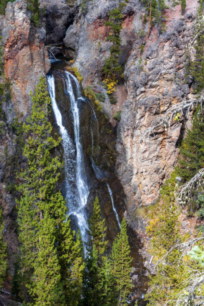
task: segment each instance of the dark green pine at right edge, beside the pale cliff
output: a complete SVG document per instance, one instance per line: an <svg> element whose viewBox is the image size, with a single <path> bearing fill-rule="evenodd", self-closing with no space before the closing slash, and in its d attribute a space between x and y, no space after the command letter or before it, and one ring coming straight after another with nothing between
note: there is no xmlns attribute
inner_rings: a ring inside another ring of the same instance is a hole
<svg viewBox="0 0 204 306"><path fill-rule="evenodd" d="M192 127L187 130L180 146L177 172L188 181L204 166L204 113L199 106L193 115Z"/></svg>

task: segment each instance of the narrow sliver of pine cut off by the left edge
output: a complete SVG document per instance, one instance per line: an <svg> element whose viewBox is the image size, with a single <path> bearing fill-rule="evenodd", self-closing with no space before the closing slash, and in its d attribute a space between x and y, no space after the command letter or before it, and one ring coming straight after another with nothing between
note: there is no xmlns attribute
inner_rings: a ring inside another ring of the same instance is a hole
<svg viewBox="0 0 204 306"><path fill-rule="evenodd" d="M7 270L7 250L6 243L3 241L4 219L2 209L0 207L0 287L2 286Z"/></svg>

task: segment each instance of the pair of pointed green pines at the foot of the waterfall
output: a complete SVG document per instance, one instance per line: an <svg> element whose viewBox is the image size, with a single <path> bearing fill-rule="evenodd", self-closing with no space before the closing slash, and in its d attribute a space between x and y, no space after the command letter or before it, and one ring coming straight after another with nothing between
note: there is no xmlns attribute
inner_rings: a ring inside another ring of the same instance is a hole
<svg viewBox="0 0 204 306"><path fill-rule="evenodd" d="M108 241L105 240L105 220L101 220L97 197L89 228L91 240L85 258L82 305L128 305L127 298L132 289L132 258L129 256L125 219L121 222L120 232L113 241L109 256L105 255Z"/></svg>

